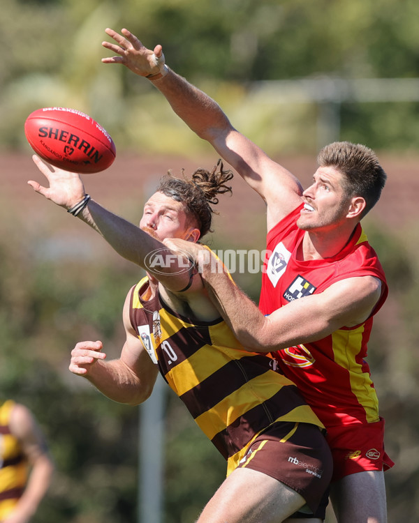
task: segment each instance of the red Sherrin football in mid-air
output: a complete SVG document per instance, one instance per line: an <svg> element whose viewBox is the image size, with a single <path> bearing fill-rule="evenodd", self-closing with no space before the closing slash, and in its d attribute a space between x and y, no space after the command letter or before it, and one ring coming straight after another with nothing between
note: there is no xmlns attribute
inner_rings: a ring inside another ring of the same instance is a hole
<svg viewBox="0 0 419 523"><path fill-rule="evenodd" d="M100 172L115 160L115 144L108 132L77 109L37 109L27 117L24 133L36 154L66 171Z"/></svg>

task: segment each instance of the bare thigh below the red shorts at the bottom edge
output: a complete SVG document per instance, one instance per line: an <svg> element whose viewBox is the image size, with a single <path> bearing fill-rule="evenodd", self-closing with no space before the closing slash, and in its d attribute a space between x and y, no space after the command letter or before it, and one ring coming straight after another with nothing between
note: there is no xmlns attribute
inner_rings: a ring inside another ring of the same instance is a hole
<svg viewBox="0 0 419 523"><path fill-rule="evenodd" d="M339 523L387 522L383 471L358 472L333 482L330 500Z"/></svg>

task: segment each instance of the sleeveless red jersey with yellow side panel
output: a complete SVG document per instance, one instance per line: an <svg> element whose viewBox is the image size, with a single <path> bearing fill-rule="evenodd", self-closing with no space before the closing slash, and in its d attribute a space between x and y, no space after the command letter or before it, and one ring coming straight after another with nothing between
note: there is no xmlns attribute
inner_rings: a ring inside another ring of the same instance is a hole
<svg viewBox="0 0 419 523"><path fill-rule="evenodd" d="M296 252L304 231L296 225L301 207L267 234L260 310L270 314L287 303L320 293L339 280L372 275L383 291L372 315L353 328L342 326L312 343L275 353L286 377L300 389L326 427L378 421L378 400L365 361L372 317L388 294L383 268L358 224L351 240L335 257L302 261Z"/></svg>

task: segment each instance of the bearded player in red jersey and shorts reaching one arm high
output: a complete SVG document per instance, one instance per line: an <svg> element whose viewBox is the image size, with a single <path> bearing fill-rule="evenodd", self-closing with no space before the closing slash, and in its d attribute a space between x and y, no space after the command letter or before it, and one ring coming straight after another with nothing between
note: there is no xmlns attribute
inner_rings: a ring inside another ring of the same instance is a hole
<svg viewBox="0 0 419 523"><path fill-rule="evenodd" d="M328 430L334 457L330 497L339 523L385 523L384 420L365 361L372 317L388 293L385 275L360 220L372 209L385 172L365 146L337 142L318 156L305 191L284 167L231 125L218 104L166 66L130 31L106 29L120 63L151 80L172 109L214 146L267 204L267 260L260 310L226 275L213 271L213 296L242 344L277 351ZM208 280L208 281L210 281ZM286 306L285 306L286 305Z"/></svg>

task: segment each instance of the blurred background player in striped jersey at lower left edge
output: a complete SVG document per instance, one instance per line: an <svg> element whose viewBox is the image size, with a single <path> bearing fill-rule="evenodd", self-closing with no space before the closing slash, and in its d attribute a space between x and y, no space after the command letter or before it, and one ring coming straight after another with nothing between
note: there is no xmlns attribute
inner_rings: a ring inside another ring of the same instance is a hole
<svg viewBox="0 0 419 523"><path fill-rule="evenodd" d="M27 407L0 404L0 522L27 523L50 487L54 464Z"/></svg>

